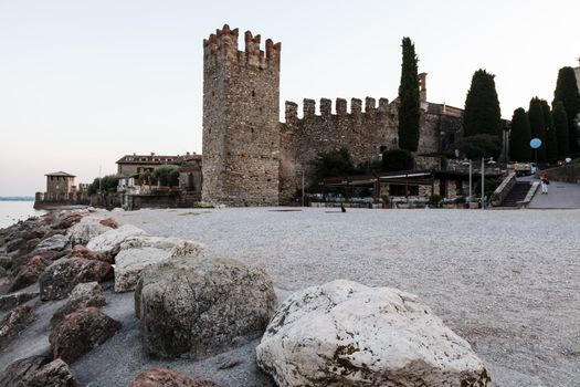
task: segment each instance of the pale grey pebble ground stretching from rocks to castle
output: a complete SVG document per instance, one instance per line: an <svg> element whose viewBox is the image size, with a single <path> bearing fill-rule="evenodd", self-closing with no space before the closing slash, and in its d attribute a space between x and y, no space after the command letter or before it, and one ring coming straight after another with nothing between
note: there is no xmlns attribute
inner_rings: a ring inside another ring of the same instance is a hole
<svg viewBox="0 0 580 387"><path fill-rule="evenodd" d="M348 279L419 294L472 344L494 386L578 386L580 210L285 210L115 218L263 265L281 290Z"/></svg>

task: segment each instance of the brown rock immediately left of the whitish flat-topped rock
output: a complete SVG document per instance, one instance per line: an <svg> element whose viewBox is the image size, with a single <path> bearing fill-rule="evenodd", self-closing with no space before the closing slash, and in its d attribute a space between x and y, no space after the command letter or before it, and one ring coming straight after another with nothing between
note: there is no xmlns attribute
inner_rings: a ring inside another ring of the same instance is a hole
<svg viewBox="0 0 580 387"><path fill-rule="evenodd" d="M39 279L42 301L62 300L80 283L103 282L113 274L106 262L86 259L60 259L52 263Z"/></svg>

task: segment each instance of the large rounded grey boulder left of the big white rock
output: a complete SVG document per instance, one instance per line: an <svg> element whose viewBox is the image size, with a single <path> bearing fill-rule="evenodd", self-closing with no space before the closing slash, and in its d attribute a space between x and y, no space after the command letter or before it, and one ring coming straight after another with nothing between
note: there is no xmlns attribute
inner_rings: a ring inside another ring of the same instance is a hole
<svg viewBox="0 0 580 387"><path fill-rule="evenodd" d="M135 290L145 349L203 358L260 336L276 306L260 268L221 258L176 259L147 268Z"/></svg>

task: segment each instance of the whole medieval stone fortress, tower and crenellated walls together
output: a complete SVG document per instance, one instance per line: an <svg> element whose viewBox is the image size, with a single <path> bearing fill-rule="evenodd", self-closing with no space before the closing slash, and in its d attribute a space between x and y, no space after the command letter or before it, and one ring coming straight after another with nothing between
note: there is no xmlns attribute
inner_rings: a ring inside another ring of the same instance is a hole
<svg viewBox="0 0 580 387"><path fill-rule="evenodd" d="M203 41L202 201L229 206L288 202L308 178L319 153L347 148L355 164L376 160L398 144L398 101L286 102L280 122L281 43L224 25ZM420 74L421 132L418 154L451 148L462 135L462 109L426 102L426 74ZM365 103L365 109L362 104Z"/></svg>

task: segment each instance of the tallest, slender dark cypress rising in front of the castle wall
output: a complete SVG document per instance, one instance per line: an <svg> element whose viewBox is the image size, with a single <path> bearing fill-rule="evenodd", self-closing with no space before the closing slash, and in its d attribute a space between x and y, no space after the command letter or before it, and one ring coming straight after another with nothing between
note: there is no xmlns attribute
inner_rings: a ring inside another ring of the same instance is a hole
<svg viewBox="0 0 580 387"><path fill-rule="evenodd" d="M419 146L419 77L415 46L411 39L403 38L403 62L399 85L399 147L416 151Z"/></svg>

